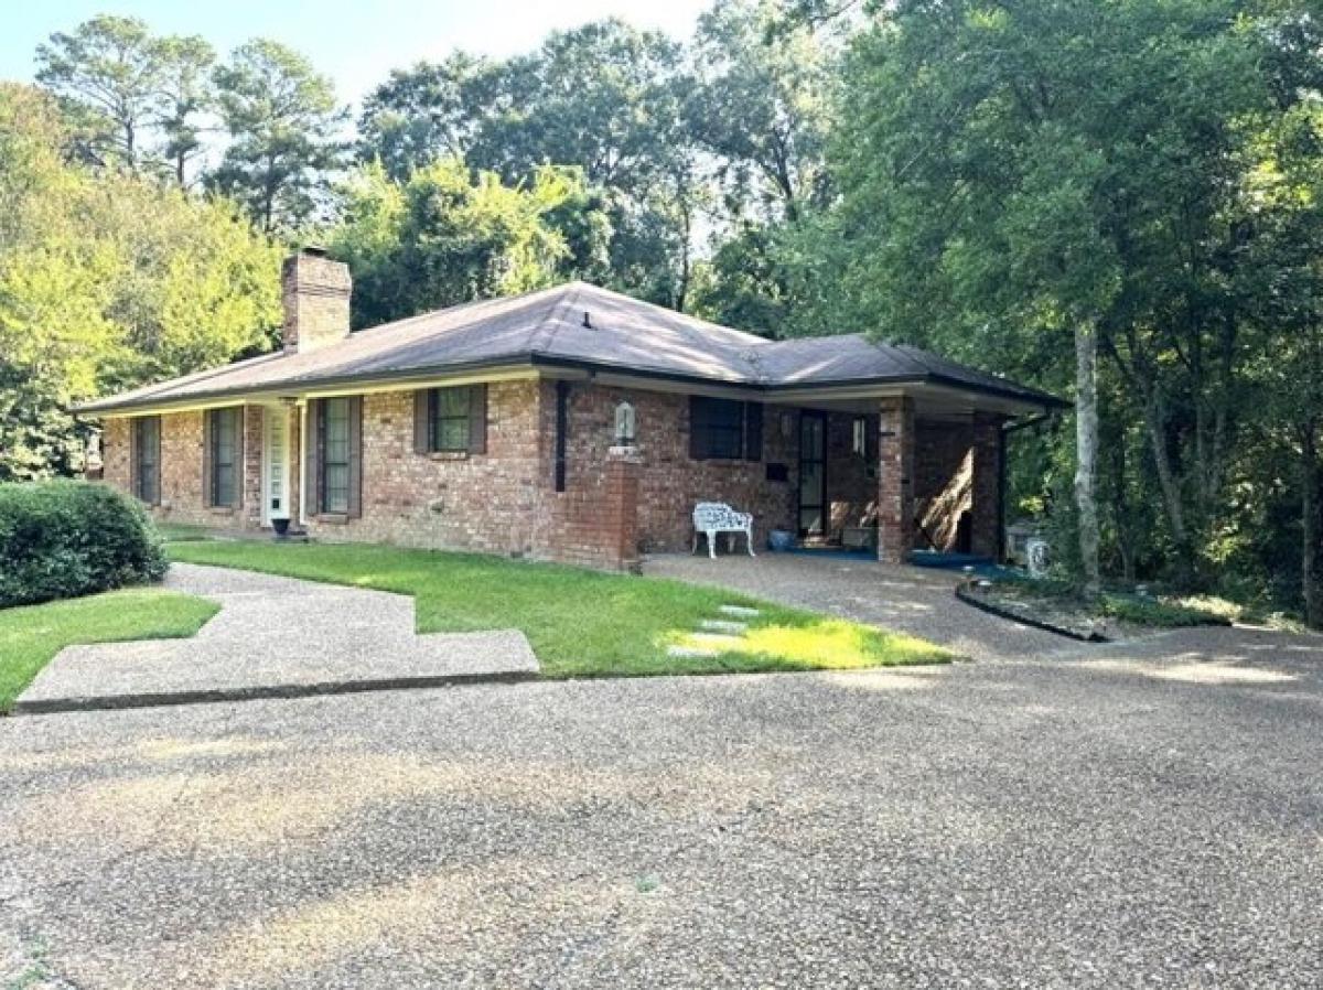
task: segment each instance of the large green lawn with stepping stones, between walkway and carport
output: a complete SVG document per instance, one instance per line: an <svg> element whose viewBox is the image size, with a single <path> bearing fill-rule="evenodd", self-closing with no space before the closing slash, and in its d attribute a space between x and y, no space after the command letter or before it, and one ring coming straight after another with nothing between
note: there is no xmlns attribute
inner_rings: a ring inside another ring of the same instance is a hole
<svg viewBox="0 0 1323 990"><path fill-rule="evenodd" d="M734 592L557 564L363 544L169 544L173 560L411 594L419 633L519 629L544 676L640 676L849 670L942 663L933 643ZM714 656L671 656L721 605L759 610L747 635Z"/></svg>

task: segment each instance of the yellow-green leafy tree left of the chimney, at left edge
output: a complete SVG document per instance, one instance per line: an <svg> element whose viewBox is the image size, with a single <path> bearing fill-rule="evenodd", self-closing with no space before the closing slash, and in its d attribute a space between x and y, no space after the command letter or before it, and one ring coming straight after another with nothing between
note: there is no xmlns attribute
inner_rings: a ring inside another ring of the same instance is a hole
<svg viewBox="0 0 1323 990"><path fill-rule="evenodd" d="M49 97L0 83L0 479L66 474L71 404L237 353L279 326L279 249L225 201L69 164Z"/></svg>

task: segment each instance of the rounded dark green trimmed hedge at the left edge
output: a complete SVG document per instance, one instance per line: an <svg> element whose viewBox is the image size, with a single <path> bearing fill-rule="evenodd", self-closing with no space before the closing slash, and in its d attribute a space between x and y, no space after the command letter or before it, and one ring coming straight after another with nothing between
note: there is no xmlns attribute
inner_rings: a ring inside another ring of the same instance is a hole
<svg viewBox="0 0 1323 990"><path fill-rule="evenodd" d="M165 555L134 499L90 482L0 484L0 608L159 581Z"/></svg>

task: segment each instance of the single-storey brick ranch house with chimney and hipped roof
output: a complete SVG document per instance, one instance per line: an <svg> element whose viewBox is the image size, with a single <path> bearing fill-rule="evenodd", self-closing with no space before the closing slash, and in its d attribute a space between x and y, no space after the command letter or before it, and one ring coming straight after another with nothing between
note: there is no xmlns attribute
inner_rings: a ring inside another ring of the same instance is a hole
<svg viewBox="0 0 1323 990"><path fill-rule="evenodd" d="M105 479L160 520L630 568L696 502L807 543L996 555L1003 428L1062 402L861 336L771 341L582 282L349 331L283 269L283 348L108 398Z"/></svg>

